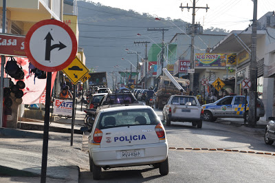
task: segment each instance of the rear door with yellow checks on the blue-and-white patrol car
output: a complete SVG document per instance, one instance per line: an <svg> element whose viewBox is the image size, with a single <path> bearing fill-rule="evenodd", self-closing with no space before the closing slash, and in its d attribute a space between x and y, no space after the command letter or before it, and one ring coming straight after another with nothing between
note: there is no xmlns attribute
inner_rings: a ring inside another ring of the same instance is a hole
<svg viewBox="0 0 275 183"><path fill-rule="evenodd" d="M246 104L248 104L248 100ZM233 105L232 105L232 117L240 117L240 116L242 117L244 112L245 112L245 96L235 96Z"/></svg>

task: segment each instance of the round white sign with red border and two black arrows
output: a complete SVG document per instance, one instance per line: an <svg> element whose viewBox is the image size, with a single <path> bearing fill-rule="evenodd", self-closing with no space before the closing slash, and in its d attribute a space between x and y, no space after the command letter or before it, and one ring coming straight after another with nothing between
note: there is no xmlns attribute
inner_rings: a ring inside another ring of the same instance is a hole
<svg viewBox="0 0 275 183"><path fill-rule="evenodd" d="M74 60L76 36L68 25L54 19L39 21L25 36L25 53L34 67L60 71Z"/></svg>

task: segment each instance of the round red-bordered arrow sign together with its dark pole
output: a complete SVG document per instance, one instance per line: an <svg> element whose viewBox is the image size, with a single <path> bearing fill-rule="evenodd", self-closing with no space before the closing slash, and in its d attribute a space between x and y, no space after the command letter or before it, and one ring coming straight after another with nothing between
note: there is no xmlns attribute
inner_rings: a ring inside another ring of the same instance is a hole
<svg viewBox="0 0 275 183"><path fill-rule="evenodd" d="M52 72L72 63L77 52L76 36L68 25L54 19L39 21L25 36L25 54L34 67L47 72L41 182L46 182Z"/></svg>

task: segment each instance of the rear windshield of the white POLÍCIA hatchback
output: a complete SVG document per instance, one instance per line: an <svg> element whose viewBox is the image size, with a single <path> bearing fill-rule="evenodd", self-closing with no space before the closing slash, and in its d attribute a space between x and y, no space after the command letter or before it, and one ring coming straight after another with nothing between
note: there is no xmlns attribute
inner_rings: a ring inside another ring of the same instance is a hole
<svg viewBox="0 0 275 183"><path fill-rule="evenodd" d="M101 113L96 128L109 129L136 125L157 125L158 123L159 118L151 109L129 109Z"/></svg>

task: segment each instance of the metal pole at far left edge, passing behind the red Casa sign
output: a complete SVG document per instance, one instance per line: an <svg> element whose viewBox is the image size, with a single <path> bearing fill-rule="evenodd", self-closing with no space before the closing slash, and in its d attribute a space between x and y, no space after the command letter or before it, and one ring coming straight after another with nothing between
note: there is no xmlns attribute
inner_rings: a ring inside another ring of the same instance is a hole
<svg viewBox="0 0 275 183"><path fill-rule="evenodd" d="M7 12L6 0L3 0L3 23L2 23L2 33L5 33L5 14ZM3 124L3 87L4 87L4 65L5 56L1 56L1 78L0 78L0 128Z"/></svg>

